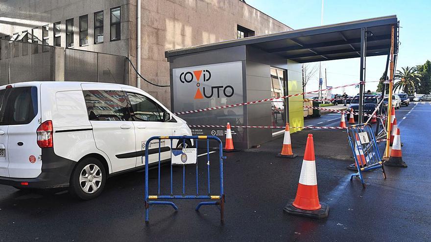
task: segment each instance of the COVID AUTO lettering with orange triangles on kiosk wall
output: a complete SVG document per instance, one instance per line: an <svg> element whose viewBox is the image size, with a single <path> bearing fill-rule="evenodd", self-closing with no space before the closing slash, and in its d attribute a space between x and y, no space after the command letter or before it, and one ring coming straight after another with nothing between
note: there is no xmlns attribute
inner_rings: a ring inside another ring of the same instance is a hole
<svg viewBox="0 0 431 242"><path fill-rule="evenodd" d="M208 69L190 70L181 72L179 81L182 84L195 83L197 89L196 94L194 94L194 99L232 97L234 95L235 90L231 85L207 86L202 87L201 91L201 83L209 82L211 77L211 71Z"/></svg>

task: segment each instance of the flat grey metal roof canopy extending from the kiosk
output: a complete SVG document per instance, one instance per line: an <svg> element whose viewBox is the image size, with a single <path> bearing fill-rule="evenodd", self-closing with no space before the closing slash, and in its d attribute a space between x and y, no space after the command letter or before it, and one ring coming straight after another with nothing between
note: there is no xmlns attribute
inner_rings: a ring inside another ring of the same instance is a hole
<svg viewBox="0 0 431 242"><path fill-rule="evenodd" d="M366 56L387 55L392 25L397 46L397 24L397 16L391 15L169 50L165 56L250 45L299 63L355 58L360 57L361 28L367 30Z"/></svg>

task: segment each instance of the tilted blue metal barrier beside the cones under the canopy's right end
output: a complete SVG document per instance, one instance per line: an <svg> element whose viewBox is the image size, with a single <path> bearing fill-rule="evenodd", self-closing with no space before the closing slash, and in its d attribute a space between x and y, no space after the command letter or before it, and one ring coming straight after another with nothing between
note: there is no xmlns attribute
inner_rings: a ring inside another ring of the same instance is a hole
<svg viewBox="0 0 431 242"><path fill-rule="evenodd" d="M382 155L379 152L378 143L371 125L358 124L349 126L347 128L347 136L349 137L349 144L355 157L356 167L358 168L358 173L352 174L350 180L354 176L359 176L362 186L365 187L362 172L379 168L382 168L383 178L386 179Z"/></svg>

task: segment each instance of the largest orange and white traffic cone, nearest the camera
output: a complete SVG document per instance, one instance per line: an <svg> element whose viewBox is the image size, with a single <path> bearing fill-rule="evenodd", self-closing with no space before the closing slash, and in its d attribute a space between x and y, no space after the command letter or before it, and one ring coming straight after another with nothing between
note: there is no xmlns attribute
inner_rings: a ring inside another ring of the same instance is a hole
<svg viewBox="0 0 431 242"><path fill-rule="evenodd" d="M320 204L317 193L316 161L312 134L309 134L307 138L296 198L293 202L287 203L283 210L288 214L314 219L328 217L329 207Z"/></svg>

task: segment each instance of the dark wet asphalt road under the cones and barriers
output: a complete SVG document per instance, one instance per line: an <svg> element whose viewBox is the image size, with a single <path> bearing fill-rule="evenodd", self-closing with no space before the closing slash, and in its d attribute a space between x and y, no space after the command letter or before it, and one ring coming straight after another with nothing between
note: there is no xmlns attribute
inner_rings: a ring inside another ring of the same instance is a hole
<svg viewBox="0 0 431 242"><path fill-rule="evenodd" d="M430 103L396 111L408 168L386 167L385 180L378 170L368 172L365 189L358 179L349 180L352 171L346 166L353 159L343 130L293 133L292 148L298 154L294 159L275 157L282 137L258 149L225 154L224 224L215 206L197 213L196 200L178 200L177 212L168 206L152 207L145 225L143 172L109 179L102 195L90 201L71 199L64 192L41 195L0 185L0 241L430 241L430 114ZM338 123L339 114L306 120L313 126ZM322 220L282 210L295 197L308 133L314 138L319 198L330 206L329 217ZM211 154L212 194L217 193L214 158ZM205 163L200 157L202 194ZM162 176L168 178L167 172L163 168ZM157 170L149 177L150 193L155 194ZM175 169L177 194L181 177L181 170ZM194 170L187 170L189 194L195 192L194 179ZM168 193L167 180L161 187Z"/></svg>

